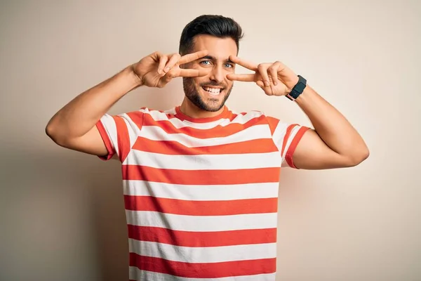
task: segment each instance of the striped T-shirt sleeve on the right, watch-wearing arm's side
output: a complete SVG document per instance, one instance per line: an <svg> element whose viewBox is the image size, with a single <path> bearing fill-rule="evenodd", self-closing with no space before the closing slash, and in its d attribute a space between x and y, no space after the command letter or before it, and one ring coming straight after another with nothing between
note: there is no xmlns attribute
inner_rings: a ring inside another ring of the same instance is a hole
<svg viewBox="0 0 421 281"><path fill-rule="evenodd" d="M300 124L283 123L274 117L267 117L272 132L272 139L281 153L281 166L298 169L293 162L295 148L304 133L310 129Z"/></svg>

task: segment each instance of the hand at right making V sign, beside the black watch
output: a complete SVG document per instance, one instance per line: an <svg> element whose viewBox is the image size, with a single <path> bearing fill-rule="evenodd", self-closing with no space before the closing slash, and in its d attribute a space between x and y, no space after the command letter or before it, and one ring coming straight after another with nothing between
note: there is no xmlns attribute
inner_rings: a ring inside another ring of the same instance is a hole
<svg viewBox="0 0 421 281"><path fill-rule="evenodd" d="M253 74L227 74L233 81L255 82L268 96L286 96L298 83L298 76L283 63L250 63L234 55L229 57L233 63L252 70Z"/></svg>

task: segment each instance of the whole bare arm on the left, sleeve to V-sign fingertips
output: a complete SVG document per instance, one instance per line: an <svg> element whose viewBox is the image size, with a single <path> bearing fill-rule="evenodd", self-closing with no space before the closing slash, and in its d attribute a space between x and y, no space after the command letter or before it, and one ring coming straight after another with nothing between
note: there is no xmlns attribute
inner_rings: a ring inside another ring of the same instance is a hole
<svg viewBox="0 0 421 281"><path fill-rule="evenodd" d="M162 88L171 79L205 75L179 66L206 55L206 51L180 57L155 52L113 77L84 91L62 107L46 126L47 135L58 145L93 155L106 155L107 148L95 126L126 93L139 86Z"/></svg>

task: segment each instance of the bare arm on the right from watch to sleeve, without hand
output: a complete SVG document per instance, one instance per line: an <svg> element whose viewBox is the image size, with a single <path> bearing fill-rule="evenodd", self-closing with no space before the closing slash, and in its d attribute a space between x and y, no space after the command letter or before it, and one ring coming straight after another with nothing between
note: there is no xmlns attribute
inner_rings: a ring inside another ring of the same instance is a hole
<svg viewBox="0 0 421 281"><path fill-rule="evenodd" d="M314 89L306 86L295 100L312 122L293 155L299 169L356 166L369 155L366 143L352 124Z"/></svg>

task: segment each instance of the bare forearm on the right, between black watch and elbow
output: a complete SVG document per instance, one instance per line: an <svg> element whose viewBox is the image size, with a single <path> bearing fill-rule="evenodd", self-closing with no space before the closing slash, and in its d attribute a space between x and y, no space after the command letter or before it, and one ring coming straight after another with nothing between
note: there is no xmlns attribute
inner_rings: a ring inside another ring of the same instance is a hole
<svg viewBox="0 0 421 281"><path fill-rule="evenodd" d="M314 89L307 86L295 101L331 150L349 159L368 156L366 143L352 124Z"/></svg>

